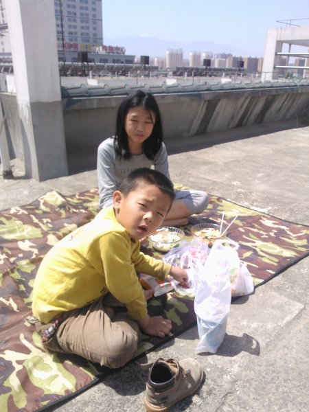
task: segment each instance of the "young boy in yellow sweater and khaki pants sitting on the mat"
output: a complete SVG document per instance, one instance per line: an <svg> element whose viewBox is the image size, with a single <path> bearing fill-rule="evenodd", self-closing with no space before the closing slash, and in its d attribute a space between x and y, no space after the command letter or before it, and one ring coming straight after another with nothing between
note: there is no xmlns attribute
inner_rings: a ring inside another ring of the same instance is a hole
<svg viewBox="0 0 309 412"><path fill-rule="evenodd" d="M137 273L159 279L187 273L139 251L139 240L161 225L174 200L168 178L148 168L131 172L113 194L113 207L60 240L45 256L34 282L32 312L48 350L78 354L117 368L132 358L141 330L163 337L169 319L150 317ZM111 293L126 306L104 304Z"/></svg>

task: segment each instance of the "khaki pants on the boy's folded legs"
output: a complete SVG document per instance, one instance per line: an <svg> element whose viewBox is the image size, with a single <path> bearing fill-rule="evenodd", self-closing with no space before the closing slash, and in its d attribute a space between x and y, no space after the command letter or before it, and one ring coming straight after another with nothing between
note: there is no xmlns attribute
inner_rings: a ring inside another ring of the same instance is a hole
<svg viewBox="0 0 309 412"><path fill-rule="evenodd" d="M36 324L41 333L48 325ZM90 306L66 312L52 339L43 343L47 350L77 354L102 366L125 365L137 350L141 331L126 312L104 306L104 297Z"/></svg>

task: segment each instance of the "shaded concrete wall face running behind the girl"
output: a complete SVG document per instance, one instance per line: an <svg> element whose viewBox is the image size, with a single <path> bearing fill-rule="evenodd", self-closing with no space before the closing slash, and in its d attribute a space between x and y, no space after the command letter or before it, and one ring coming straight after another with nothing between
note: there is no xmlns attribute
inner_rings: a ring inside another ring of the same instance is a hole
<svg viewBox="0 0 309 412"><path fill-rule="evenodd" d="M309 87L157 94L166 144L172 139L308 114ZM123 96L62 99L67 150L93 148L115 133Z"/></svg>

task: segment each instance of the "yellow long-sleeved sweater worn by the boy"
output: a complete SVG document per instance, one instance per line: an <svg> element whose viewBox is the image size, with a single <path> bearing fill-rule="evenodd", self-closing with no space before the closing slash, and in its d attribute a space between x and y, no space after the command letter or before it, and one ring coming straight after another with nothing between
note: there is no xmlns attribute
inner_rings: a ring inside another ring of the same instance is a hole
<svg viewBox="0 0 309 412"><path fill-rule="evenodd" d="M130 239L113 207L103 209L45 255L34 281L32 311L49 323L111 292L133 319L141 319L147 306L137 273L164 279L170 268L139 251L139 241Z"/></svg>

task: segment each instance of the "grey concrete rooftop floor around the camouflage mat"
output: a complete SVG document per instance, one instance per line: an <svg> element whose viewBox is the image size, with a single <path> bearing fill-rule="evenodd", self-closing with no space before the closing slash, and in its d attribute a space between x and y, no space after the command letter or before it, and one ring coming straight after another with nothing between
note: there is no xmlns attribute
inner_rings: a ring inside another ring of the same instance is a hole
<svg viewBox="0 0 309 412"><path fill-rule="evenodd" d="M308 225L309 126L297 119L187 137L170 142L168 150L174 182ZM25 178L21 161L12 164L14 179L0 178L0 209L30 203L51 189L72 194L97 186L95 153L70 154L76 173L41 183ZM88 171L78 172L82 168ZM171 411L308 410L308 290L307 258L231 305L217 354L195 354L198 333L192 328L56 409L143 411L146 373L139 363L194 357L206 380Z"/></svg>

